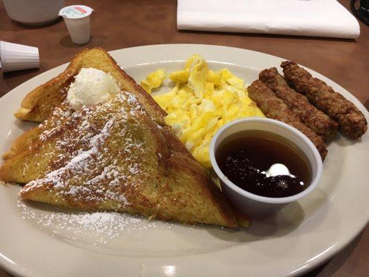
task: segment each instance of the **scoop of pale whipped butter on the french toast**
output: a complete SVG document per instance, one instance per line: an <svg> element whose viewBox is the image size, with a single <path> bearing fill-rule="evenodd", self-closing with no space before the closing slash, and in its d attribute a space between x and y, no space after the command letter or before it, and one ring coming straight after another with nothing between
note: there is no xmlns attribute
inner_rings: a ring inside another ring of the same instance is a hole
<svg viewBox="0 0 369 277"><path fill-rule="evenodd" d="M111 75L93 68L82 68L75 75L75 81L69 87L66 99L71 107L79 110L82 106L97 105L107 102L120 91L116 80Z"/></svg>

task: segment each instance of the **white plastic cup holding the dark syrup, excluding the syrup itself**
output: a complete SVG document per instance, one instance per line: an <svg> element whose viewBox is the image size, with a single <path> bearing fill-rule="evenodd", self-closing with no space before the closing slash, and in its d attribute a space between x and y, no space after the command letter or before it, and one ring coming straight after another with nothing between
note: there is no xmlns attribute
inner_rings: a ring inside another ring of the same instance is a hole
<svg viewBox="0 0 369 277"><path fill-rule="evenodd" d="M309 186L302 192L288 197L264 197L249 193L233 184L233 182L224 175L222 170L220 170L217 160L215 159L215 153L224 139L232 134L246 130L271 132L294 143L300 151L305 154L309 167L312 170L312 181ZM270 118L242 118L231 121L219 129L217 134L215 134L210 143L209 152L211 165L220 179L223 193L225 193L231 204L250 220L261 220L271 217L287 204L309 195L309 193L318 186L323 172L321 156L312 141L310 141L305 134L298 131L298 129Z"/></svg>

